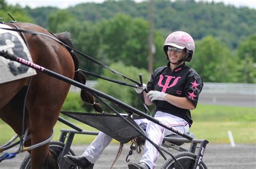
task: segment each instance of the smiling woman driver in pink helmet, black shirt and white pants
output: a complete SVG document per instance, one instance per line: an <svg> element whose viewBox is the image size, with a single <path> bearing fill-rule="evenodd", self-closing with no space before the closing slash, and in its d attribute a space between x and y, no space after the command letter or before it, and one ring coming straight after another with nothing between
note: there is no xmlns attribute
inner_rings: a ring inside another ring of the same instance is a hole
<svg viewBox="0 0 256 169"><path fill-rule="evenodd" d="M190 110L197 106L203 82L194 69L185 66L194 54L194 40L190 34L182 31L171 33L165 40L164 52L167 66L157 68L147 85L135 88L143 93L147 105L156 104L154 118L187 133L192 125ZM144 90L147 88L149 93ZM161 145L164 136L175 134L147 119L136 119L136 123L146 123L147 136L156 144ZM112 138L100 132L82 156L65 155L70 164L92 168L96 160ZM129 168L154 168L158 151L149 142L145 142L144 154L140 163L129 163Z"/></svg>

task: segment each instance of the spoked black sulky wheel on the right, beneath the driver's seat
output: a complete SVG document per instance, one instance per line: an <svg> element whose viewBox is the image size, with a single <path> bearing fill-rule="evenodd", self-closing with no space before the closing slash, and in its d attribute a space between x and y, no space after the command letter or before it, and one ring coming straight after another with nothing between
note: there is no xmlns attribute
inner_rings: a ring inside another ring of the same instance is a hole
<svg viewBox="0 0 256 169"><path fill-rule="evenodd" d="M182 168L193 168L194 163L196 161L196 154L193 154L191 152L178 152L176 154L173 155L177 161L179 161L180 165L182 166ZM161 168L181 168L180 165L171 158L167 159L165 161L165 163L163 164L163 166ZM200 168L207 168L205 163L203 161L201 161L201 165Z"/></svg>

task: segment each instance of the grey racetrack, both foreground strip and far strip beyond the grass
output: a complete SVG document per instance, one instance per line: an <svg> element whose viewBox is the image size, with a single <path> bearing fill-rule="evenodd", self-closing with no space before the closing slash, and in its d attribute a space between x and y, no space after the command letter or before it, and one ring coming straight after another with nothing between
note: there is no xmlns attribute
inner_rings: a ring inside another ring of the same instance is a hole
<svg viewBox="0 0 256 169"><path fill-rule="evenodd" d="M255 95L242 96L242 95L200 95L199 103L202 104L222 104L222 105L240 105L255 107ZM246 132L246 131L245 131ZM83 153L88 145L75 145L71 149L75 151L77 155ZM123 152L119 157L117 163L113 168L127 168L125 158L129 153L130 144L125 144ZM111 164L116 157L119 145L111 144L106 147L103 155L95 164L94 168L110 168ZM184 146L185 149L189 149L189 145ZM9 153L15 152L18 147L12 148ZM19 168L22 160L28 153L20 153L16 158L10 160L4 160L0 163L0 168ZM0 153L2 156L3 153ZM129 157L131 162L138 162L141 156L136 152ZM256 143L254 144L236 144L232 147L230 144L207 144L203 161L208 168L256 168ZM160 168L163 165L164 159L159 156L157 160L156 168Z"/></svg>

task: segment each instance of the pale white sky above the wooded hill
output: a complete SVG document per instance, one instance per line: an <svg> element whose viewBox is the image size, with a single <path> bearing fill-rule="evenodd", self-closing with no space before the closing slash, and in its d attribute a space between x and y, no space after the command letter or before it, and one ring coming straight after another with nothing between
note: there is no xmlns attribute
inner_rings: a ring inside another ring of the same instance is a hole
<svg viewBox="0 0 256 169"><path fill-rule="evenodd" d="M30 8L37 8L40 6L55 6L60 9L68 8L69 6L75 6L79 3L86 2L95 2L102 3L104 0L5 0L8 4L19 4L22 7L26 5L30 6ZM143 0L136 0L137 2L141 2ZM234 5L239 8L241 6L246 6L250 9L256 9L256 0L196 0L196 1L208 1L208 2L223 2L226 5Z"/></svg>

